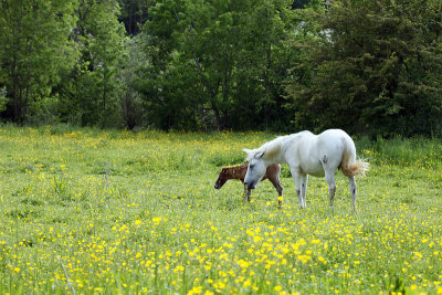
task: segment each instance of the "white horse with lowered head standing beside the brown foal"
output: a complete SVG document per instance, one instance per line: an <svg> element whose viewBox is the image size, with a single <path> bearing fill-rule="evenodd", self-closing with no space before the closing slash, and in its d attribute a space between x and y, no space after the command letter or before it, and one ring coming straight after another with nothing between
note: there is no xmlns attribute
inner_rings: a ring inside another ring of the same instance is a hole
<svg viewBox="0 0 442 295"><path fill-rule="evenodd" d="M256 149L243 149L248 154L249 169L244 185L254 189L272 164L287 164L295 180L299 208L305 208L308 175L327 180L329 202L335 198L335 171L341 169L350 182L352 207L356 210L355 176L365 175L369 164L356 160L352 139L340 129L328 129L319 135L311 131L277 137Z"/></svg>

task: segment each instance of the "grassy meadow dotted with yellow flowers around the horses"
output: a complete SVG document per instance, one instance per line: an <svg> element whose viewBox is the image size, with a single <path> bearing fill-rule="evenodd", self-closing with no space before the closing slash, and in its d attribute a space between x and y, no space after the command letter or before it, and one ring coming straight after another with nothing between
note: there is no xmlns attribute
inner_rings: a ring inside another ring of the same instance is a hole
<svg viewBox="0 0 442 295"><path fill-rule="evenodd" d="M283 167L213 185L265 133L0 128L0 294L442 294L442 141L356 140L358 211Z"/></svg>

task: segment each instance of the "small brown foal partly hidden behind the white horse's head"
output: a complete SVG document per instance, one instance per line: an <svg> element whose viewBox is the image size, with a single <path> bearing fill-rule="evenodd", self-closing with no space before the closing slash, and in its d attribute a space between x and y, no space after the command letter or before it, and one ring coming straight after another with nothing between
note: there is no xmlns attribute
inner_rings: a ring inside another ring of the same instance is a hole
<svg viewBox="0 0 442 295"><path fill-rule="evenodd" d="M224 183L230 180L230 179L239 179L241 180L242 183L244 183L244 178L245 173L248 172L248 165L240 165L240 166L232 166L232 167L224 167L221 169L220 175L218 176L217 182L214 183L215 189L221 189ZM277 191L277 203L281 207L282 206L282 197L283 196L283 187L281 186L280 182L280 173L281 173L281 165L274 164L267 167L267 170L265 171L264 177L261 179L263 181L264 179L269 179L272 185L275 187ZM244 199L246 198L248 201L250 202L251 189L248 188L248 186L244 185Z"/></svg>

